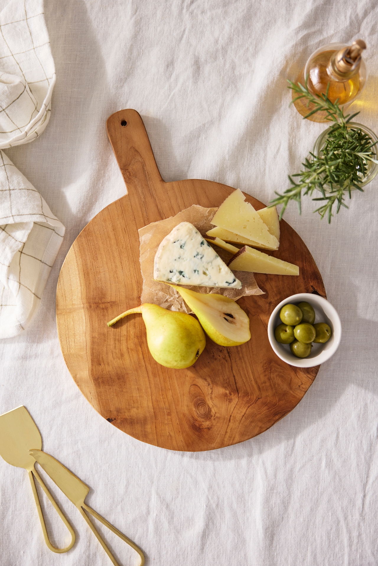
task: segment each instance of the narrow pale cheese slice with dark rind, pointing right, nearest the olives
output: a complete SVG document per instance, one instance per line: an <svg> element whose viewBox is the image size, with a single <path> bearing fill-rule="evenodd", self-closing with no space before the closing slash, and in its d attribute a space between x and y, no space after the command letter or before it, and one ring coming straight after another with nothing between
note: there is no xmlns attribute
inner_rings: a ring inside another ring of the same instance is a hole
<svg viewBox="0 0 378 566"><path fill-rule="evenodd" d="M228 262L228 267L235 271L253 273L271 273L272 275L299 275L298 265L272 258L262 251L244 246Z"/></svg>

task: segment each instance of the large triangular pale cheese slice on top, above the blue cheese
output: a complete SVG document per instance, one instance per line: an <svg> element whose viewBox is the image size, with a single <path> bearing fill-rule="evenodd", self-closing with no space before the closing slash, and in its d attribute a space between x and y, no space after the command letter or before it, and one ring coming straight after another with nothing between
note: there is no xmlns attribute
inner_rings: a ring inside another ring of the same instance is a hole
<svg viewBox="0 0 378 566"><path fill-rule="evenodd" d="M239 188L220 205L211 224L270 248L279 246L277 238L269 233L253 206L245 202L245 196Z"/></svg>

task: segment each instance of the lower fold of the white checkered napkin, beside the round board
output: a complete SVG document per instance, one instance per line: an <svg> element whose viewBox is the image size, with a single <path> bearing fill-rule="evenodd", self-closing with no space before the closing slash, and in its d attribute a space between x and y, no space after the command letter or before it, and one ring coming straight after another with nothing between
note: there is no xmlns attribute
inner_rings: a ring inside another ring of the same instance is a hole
<svg viewBox="0 0 378 566"><path fill-rule="evenodd" d="M10 338L32 319L65 228L2 151L0 162L0 338Z"/></svg>

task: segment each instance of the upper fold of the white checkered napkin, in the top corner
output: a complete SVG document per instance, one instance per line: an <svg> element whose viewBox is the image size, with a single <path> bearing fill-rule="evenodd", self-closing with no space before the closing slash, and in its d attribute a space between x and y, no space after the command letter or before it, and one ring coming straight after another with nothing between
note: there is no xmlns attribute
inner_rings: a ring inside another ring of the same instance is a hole
<svg viewBox="0 0 378 566"><path fill-rule="evenodd" d="M12 0L0 13L0 148L43 132L55 79L43 0Z"/></svg>

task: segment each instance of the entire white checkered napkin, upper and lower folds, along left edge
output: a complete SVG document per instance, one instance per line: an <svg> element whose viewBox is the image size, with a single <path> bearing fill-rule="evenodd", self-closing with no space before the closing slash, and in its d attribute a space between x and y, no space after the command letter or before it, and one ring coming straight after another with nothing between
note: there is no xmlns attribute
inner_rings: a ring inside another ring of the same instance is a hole
<svg viewBox="0 0 378 566"><path fill-rule="evenodd" d="M0 13L0 148L28 143L43 132L55 76L43 0L12 0ZM27 327L64 233L0 149L0 338Z"/></svg>

